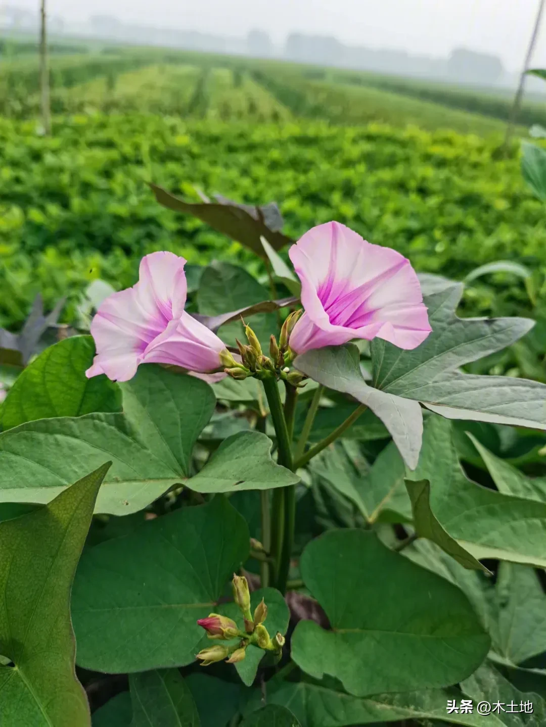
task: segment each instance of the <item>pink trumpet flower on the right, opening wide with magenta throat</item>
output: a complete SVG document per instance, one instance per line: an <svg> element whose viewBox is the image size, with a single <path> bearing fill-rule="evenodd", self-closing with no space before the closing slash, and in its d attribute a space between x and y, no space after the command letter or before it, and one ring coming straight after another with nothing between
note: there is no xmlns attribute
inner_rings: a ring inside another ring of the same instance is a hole
<svg viewBox="0 0 546 727"><path fill-rule="evenodd" d="M290 335L294 353L376 336L411 349L430 333L417 275L396 250L327 222L305 233L289 256L305 308Z"/></svg>

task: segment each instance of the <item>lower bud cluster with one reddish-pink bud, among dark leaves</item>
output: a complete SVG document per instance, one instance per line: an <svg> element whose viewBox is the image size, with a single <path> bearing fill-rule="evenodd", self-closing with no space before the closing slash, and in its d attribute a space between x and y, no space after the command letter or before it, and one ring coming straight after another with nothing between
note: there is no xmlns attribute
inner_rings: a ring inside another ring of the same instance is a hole
<svg viewBox="0 0 546 727"><path fill-rule="evenodd" d="M208 667L214 662L221 662L225 659L228 664L242 662L246 656L246 647L254 644L265 651L271 651L280 659L282 647L284 646L284 636L277 632L272 639L263 622L268 617L268 607L262 598L254 608L254 614L250 611L250 592L249 585L244 576L233 574L231 583L233 588L233 600L237 604L244 619L244 631L240 631L233 619L220 614L209 614L206 619L198 619L199 626L206 630L211 639L233 640L238 639L234 646L227 644L217 644L202 649L196 654L197 659L201 660L202 667Z"/></svg>

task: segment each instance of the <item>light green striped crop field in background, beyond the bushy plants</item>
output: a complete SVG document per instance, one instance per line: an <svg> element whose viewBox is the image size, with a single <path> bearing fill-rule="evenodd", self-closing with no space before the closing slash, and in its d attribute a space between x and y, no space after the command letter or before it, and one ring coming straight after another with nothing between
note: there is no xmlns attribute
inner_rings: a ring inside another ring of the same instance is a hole
<svg viewBox="0 0 546 727"><path fill-rule="evenodd" d="M39 113L37 63L28 56L0 65L3 116L28 119ZM296 116L490 134L502 131L510 103L507 97L406 79L146 49L53 54L50 80L54 113L147 111L257 121ZM524 105L521 121L546 123L546 111Z"/></svg>

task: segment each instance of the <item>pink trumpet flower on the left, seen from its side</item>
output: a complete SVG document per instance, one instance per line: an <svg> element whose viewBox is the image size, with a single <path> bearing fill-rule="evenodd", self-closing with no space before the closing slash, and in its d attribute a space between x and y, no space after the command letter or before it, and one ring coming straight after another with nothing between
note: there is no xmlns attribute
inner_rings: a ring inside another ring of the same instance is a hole
<svg viewBox="0 0 546 727"><path fill-rule="evenodd" d="M113 293L91 324L97 356L88 378L127 381L140 364L172 364L205 374L222 366L224 343L184 310L185 260L153 252L140 261L138 283Z"/></svg>

